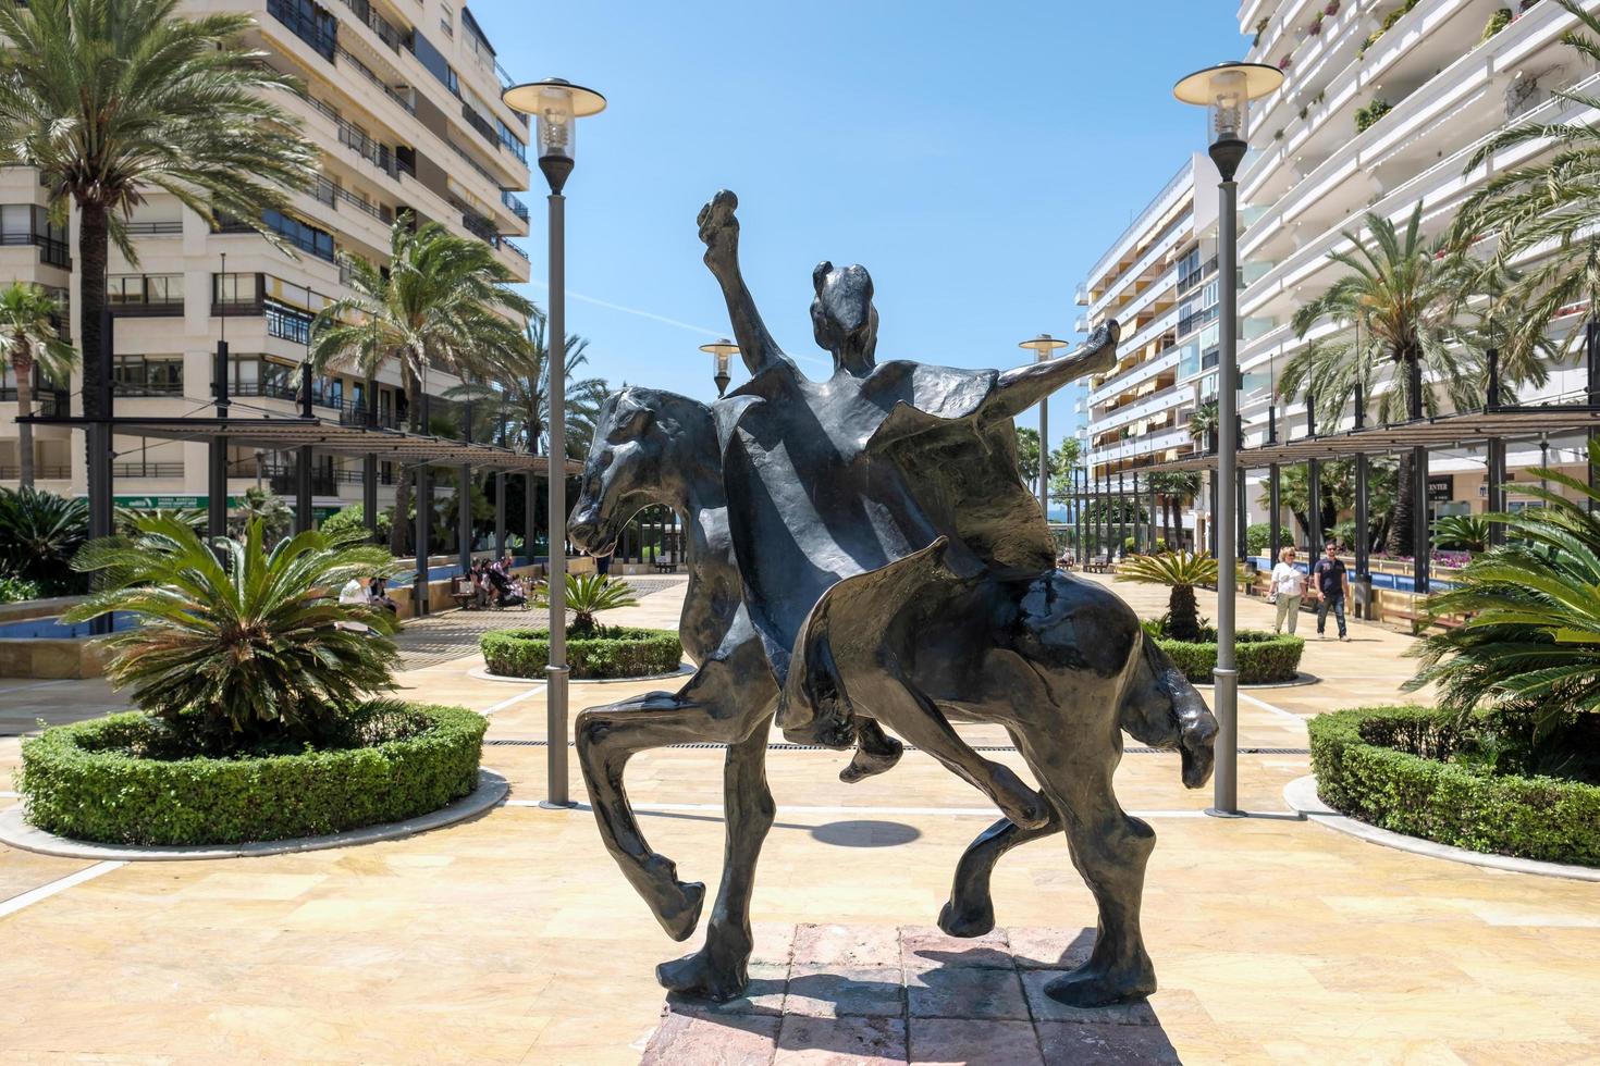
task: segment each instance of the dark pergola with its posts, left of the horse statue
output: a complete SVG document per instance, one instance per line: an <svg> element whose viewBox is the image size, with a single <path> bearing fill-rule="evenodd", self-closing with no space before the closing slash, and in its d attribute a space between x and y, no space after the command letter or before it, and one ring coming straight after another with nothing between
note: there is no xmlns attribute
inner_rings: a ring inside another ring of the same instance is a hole
<svg viewBox="0 0 1600 1066"><path fill-rule="evenodd" d="M309 404L304 404L309 406ZM357 412L365 414L365 412ZM376 412L374 412L376 414ZM211 449L211 484L206 497L208 531L219 535L227 529L227 447L243 446L264 451L299 454L296 463L294 486L294 529L312 527L312 463L310 452L333 452L344 455L360 455L363 459L363 495L362 513L366 529L376 535L378 529L378 463L394 462L413 470L413 492L416 500L416 577L413 579L413 612L427 612L427 545L430 540L430 467L456 467L462 471L462 486L458 497L461 500L459 521L459 564L462 572L472 564L472 500L466 491L472 470L493 470L498 478L494 499L494 550L506 553L506 476L523 475L528 479L526 502L526 543L533 545L534 529L534 484L539 478L549 476L549 459L526 452L510 451L494 444L475 441L454 441L422 433L387 428L381 425L350 425L339 420L325 420L312 414L299 416L266 416L235 419L227 417L226 404L218 416L186 416L186 417L32 417L32 425L56 425L69 428L88 428L91 424L102 425L104 440L115 440L117 433L131 436L154 436L170 441L205 443ZM373 419L376 422L376 419ZM582 463L568 459L566 475L582 473ZM106 478L96 486L96 494L102 500L90 500L90 508L96 505L110 508L112 479Z"/></svg>

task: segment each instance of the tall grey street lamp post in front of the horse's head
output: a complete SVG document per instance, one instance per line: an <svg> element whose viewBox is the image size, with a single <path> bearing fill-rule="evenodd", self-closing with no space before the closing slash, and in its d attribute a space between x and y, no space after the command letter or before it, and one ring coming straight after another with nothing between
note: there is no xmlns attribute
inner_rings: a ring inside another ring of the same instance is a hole
<svg viewBox="0 0 1600 1066"><path fill-rule="evenodd" d="M605 97L563 78L514 85L501 99L538 123L539 171L550 184L550 665L546 670L547 782L541 807L571 807L566 798L566 198L576 120L605 110Z"/></svg>

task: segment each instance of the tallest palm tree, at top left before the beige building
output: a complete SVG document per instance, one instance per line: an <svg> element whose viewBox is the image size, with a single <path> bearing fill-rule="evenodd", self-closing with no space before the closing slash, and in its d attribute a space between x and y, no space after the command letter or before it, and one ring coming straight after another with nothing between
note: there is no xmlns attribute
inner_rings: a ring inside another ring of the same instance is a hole
<svg viewBox="0 0 1600 1066"><path fill-rule="evenodd" d="M216 224L266 233L262 208L315 176L315 147L274 96L293 78L240 45L246 14L176 14L179 0L0 5L0 165L32 166L51 211L78 208L83 414L106 416L101 352L110 243L139 257L126 221L166 192ZM93 435L91 435L93 436ZM107 441L109 444L109 441ZM90 444L93 447L94 444Z"/></svg>

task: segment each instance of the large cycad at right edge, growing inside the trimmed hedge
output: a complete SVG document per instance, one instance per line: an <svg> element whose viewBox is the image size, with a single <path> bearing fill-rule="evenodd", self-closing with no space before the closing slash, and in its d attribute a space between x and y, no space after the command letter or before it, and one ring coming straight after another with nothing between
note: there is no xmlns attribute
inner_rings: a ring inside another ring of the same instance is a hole
<svg viewBox="0 0 1600 1066"><path fill-rule="evenodd" d="M1600 443L1589 463L1600 468ZM1560 470L1533 476L1520 492L1541 507L1493 515L1506 543L1427 598L1430 615L1464 622L1422 641L1408 687L1437 684L1442 706L1522 722L1534 743L1574 727L1600 740L1600 491Z"/></svg>

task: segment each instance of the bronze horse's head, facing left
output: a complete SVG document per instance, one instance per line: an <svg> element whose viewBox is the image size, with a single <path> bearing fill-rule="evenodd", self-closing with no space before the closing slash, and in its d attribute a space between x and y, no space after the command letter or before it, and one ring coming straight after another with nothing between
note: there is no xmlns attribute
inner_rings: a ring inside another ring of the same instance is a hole
<svg viewBox="0 0 1600 1066"><path fill-rule="evenodd" d="M568 534L590 555L610 555L642 507L688 510L688 476L715 463L710 408L677 393L630 385L600 406ZM709 454L701 454L709 452Z"/></svg>

